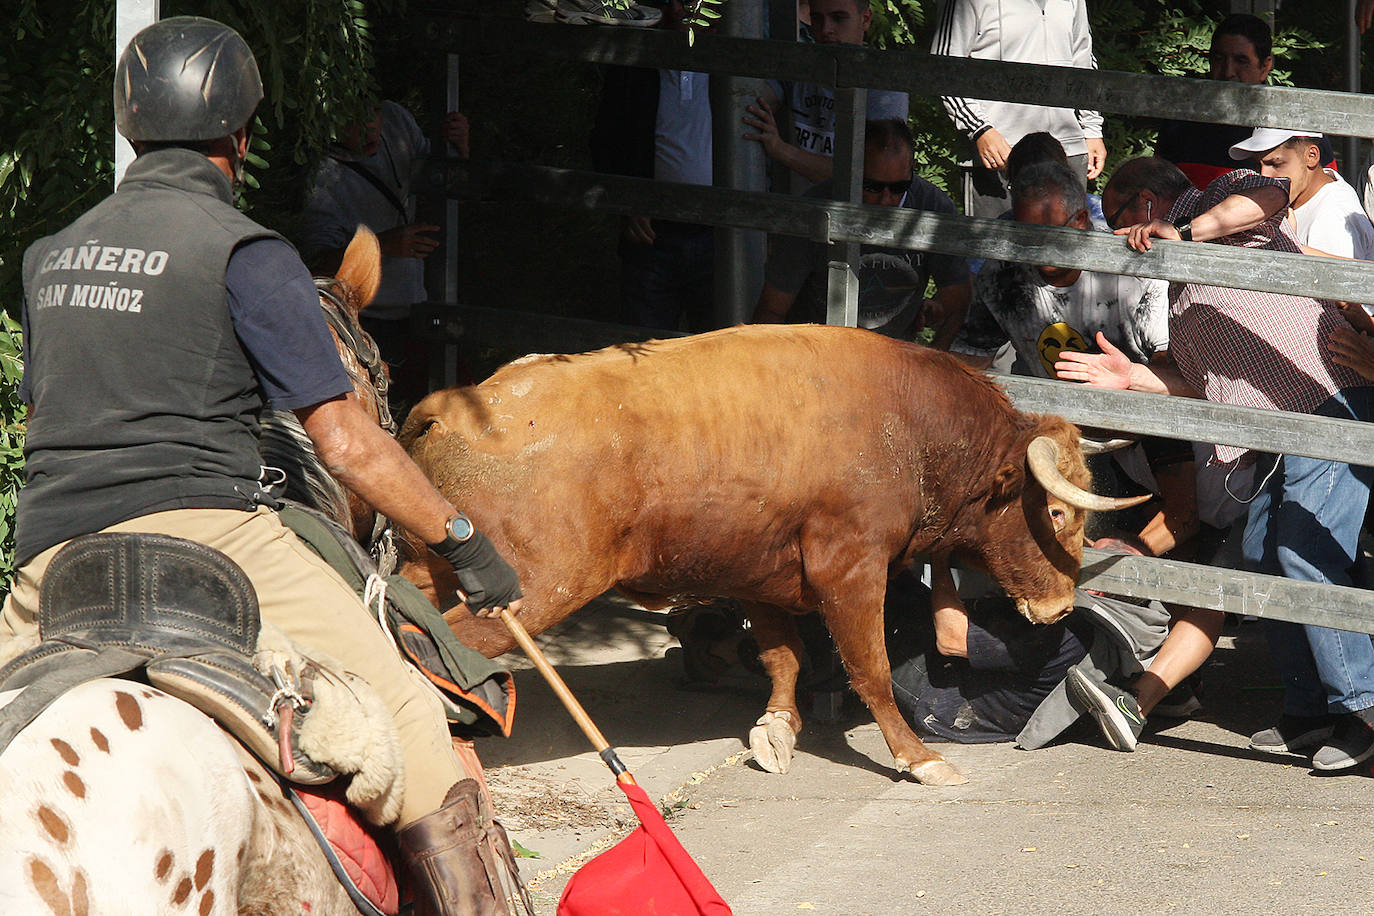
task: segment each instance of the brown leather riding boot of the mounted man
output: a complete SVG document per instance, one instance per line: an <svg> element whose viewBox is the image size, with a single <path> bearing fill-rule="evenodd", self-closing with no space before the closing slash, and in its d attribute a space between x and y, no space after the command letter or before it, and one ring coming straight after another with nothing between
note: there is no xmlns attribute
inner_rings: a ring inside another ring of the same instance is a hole
<svg viewBox="0 0 1374 916"><path fill-rule="evenodd" d="M477 780L453 784L444 806L397 831L416 916L508 916Z"/></svg>

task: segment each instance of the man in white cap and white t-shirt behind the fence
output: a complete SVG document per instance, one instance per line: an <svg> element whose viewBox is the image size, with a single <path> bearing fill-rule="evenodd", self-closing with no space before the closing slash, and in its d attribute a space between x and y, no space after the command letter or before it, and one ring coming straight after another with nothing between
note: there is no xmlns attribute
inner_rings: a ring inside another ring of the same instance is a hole
<svg viewBox="0 0 1374 916"><path fill-rule="evenodd" d="M1355 188L1322 166L1320 139L1319 130L1256 128L1231 147L1231 158L1254 159L1260 174L1289 180L1289 228L1309 254L1374 260L1374 224Z"/></svg>

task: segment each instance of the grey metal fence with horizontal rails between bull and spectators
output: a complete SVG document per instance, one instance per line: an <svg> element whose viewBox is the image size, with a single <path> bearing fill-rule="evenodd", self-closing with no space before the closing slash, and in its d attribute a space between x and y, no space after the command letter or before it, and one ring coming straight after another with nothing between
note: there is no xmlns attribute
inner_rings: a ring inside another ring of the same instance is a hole
<svg viewBox="0 0 1374 916"><path fill-rule="evenodd" d="M1160 111L1187 111L1197 121L1374 136L1374 96L1366 95L712 36L698 37L695 47L688 48L682 36L632 29L550 29L510 21L442 18L423 22L422 30L431 44L451 52L502 48L596 63L829 82L840 91L870 87L916 95L938 92L1150 117ZM852 146L863 130L863 107L848 102L838 107L857 114L837 124L837 148ZM855 177L837 174L835 184L852 187ZM528 201L763 229L831 244L882 244L1374 302L1374 264L1369 262L1182 242L1160 242L1151 251L1135 253L1121 239L1105 233L672 185L534 165L436 163L427 180L431 191L448 198ZM507 310L469 308L460 309L460 314L471 336L504 345L521 342L545 352L574 352L649 336L642 328L594 327L595 323ZM852 324L852 312L846 317ZM1018 408L1059 413L1085 426L1374 466L1374 424L1040 379L1000 376L999 382ZM1118 595L1374 633L1374 593L1362 589L1092 549L1084 552L1081 584Z"/></svg>

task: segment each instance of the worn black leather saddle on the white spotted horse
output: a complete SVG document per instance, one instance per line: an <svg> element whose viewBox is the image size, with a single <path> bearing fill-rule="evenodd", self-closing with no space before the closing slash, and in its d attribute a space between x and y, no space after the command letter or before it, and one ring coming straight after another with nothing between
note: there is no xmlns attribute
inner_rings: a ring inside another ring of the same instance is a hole
<svg viewBox="0 0 1374 916"><path fill-rule="evenodd" d="M224 553L165 534L74 538L38 593L40 644L0 669L0 751L58 696L98 677L143 677L210 715L289 780L337 773L297 753L311 710L305 672L253 666L261 619L253 584ZM294 726L293 726L294 725Z"/></svg>

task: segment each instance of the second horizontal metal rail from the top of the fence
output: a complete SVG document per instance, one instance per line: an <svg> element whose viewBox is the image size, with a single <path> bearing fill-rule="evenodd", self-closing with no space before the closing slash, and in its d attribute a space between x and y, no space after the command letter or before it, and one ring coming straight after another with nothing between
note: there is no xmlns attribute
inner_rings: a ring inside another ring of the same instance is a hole
<svg viewBox="0 0 1374 916"><path fill-rule="evenodd" d="M764 229L823 243L860 242L960 257L1374 302L1371 261L1195 242L1157 240L1150 251L1132 251L1121 238L1106 232L785 194L705 188L536 165L433 161L422 180L429 190L451 198L532 201L547 206Z"/></svg>

